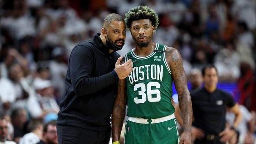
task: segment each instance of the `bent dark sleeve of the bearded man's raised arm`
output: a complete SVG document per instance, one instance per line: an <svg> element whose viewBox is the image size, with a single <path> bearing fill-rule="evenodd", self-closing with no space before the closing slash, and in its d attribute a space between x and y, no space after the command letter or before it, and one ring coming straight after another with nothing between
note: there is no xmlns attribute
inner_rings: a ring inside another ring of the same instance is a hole
<svg viewBox="0 0 256 144"><path fill-rule="evenodd" d="M70 79L76 96L97 92L116 82L113 72L91 78L93 54L85 46L78 45L70 55Z"/></svg>

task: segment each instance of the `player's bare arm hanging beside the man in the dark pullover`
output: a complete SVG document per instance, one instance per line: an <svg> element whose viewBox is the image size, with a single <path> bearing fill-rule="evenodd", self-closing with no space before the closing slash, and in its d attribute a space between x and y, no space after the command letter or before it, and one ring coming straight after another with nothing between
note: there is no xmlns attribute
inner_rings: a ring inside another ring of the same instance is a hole
<svg viewBox="0 0 256 144"><path fill-rule="evenodd" d="M125 117L126 107L126 92L125 92L125 79L118 82L117 96L115 98L113 111L112 111L112 142L119 141L122 131L122 125Z"/></svg>

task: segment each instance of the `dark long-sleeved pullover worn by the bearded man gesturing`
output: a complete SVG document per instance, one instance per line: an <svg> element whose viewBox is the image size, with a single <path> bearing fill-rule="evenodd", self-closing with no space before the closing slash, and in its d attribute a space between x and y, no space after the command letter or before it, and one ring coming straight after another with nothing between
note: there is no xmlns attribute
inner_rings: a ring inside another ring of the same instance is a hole
<svg viewBox="0 0 256 144"><path fill-rule="evenodd" d="M110 126L119 81L113 70L120 55L117 52L109 54L109 48L99 35L77 44L70 54L58 125L95 131L104 131Z"/></svg>

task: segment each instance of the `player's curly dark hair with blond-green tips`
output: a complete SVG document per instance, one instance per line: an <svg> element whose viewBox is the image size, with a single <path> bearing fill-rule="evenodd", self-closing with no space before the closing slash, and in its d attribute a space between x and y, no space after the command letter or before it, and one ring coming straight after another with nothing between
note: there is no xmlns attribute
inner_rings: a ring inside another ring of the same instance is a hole
<svg viewBox="0 0 256 144"><path fill-rule="evenodd" d="M148 6L138 6L130 9L128 13L125 14L125 24L126 27L130 30L132 27L132 22L134 20L143 20L148 19L150 20L152 26L155 27L154 32L156 31L156 28L159 24L158 15L156 15L156 12L148 7Z"/></svg>

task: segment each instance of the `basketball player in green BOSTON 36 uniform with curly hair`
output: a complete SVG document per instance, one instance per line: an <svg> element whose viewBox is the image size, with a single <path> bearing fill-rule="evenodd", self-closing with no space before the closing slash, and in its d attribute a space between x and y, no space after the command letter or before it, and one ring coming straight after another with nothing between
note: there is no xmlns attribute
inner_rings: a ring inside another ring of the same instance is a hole
<svg viewBox="0 0 256 144"><path fill-rule="evenodd" d="M118 83L112 113L112 144L120 143L125 94L128 103L125 144L191 144L191 98L178 50L152 41L159 24L153 9L139 6L125 16L126 27L135 42L125 61L132 59L133 70ZM180 137L171 104L173 81L184 122Z"/></svg>

